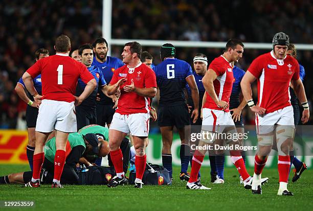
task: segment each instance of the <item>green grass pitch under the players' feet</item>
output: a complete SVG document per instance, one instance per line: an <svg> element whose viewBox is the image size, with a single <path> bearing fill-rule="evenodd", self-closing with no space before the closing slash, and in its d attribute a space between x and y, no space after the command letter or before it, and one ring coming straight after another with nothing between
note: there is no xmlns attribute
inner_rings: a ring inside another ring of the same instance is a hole
<svg viewBox="0 0 313 211"><path fill-rule="evenodd" d="M28 169L23 165L0 165L0 175ZM138 190L132 185L114 189L101 185L65 185L64 189L51 189L50 185L42 185L38 189L27 189L11 184L0 185L0 200L35 201L35 208L40 210L313 210L310 177L313 170L305 171L296 183L289 183L293 197L276 195L279 186L276 169L264 169L262 175L270 177L270 181L262 186L261 196L252 195L251 190L239 184L235 168L225 169L225 184L208 182L210 169L203 168L202 183L212 188L206 191L186 190L186 182L178 178L180 169L173 170L171 186L144 186Z"/></svg>

